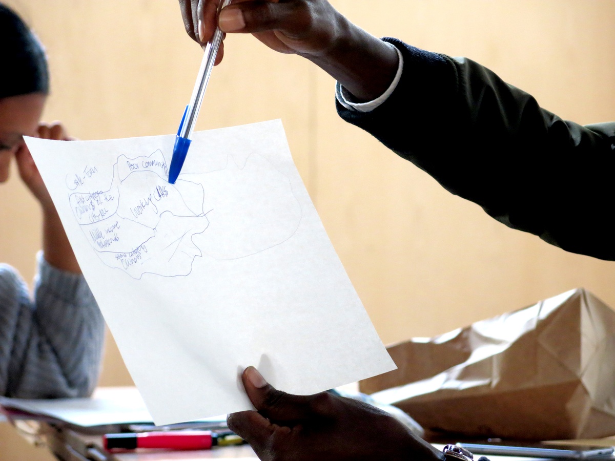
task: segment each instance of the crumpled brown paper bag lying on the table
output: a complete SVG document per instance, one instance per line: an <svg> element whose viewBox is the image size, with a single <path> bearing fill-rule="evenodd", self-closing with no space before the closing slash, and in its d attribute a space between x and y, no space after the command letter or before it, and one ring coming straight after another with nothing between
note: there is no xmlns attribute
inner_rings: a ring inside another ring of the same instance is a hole
<svg viewBox="0 0 615 461"><path fill-rule="evenodd" d="M584 289L388 348L362 380L424 428L513 439L615 434L615 312Z"/></svg>

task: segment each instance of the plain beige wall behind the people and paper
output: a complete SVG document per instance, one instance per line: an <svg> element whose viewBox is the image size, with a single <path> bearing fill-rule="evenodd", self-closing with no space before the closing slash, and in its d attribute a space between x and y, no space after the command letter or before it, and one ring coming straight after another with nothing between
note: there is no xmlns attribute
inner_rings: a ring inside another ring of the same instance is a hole
<svg viewBox="0 0 615 461"><path fill-rule="evenodd" d="M615 119L611 0L332 3L376 36L472 58L561 117ZM45 119L62 120L84 140L177 130L201 51L185 35L176 0L7 4L49 52ZM577 286L615 306L615 263L565 253L448 194L339 119L333 80L301 58L250 36L225 43L197 129L282 119L298 170L385 343L433 336ZM0 258L31 280L40 218L16 178L0 192ZM583 219L582 210L570 219ZM109 336L100 384L130 382ZM25 459L25 450L3 425L0 460Z"/></svg>

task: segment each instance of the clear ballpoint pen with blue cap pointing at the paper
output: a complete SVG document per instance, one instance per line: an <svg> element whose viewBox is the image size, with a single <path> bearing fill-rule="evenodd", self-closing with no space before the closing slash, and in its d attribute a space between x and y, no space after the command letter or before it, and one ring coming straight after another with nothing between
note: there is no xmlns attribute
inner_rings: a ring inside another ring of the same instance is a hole
<svg viewBox="0 0 615 461"><path fill-rule="evenodd" d="M220 6L220 10L228 6L231 0L224 0ZM180 129L175 136L175 146L173 146L173 157L171 157L171 165L169 167L169 183L175 184L177 176L180 175L181 167L186 160L186 154L190 147L192 131L194 124L199 116L200 104L203 102L203 95L209 82L209 76L212 73L213 63L216 60L220 42L222 41L223 32L218 26L213 33L212 40L205 46L203 60L200 63L199 74L196 77L196 84L192 90L190 103L186 106L183 117L181 117Z"/></svg>

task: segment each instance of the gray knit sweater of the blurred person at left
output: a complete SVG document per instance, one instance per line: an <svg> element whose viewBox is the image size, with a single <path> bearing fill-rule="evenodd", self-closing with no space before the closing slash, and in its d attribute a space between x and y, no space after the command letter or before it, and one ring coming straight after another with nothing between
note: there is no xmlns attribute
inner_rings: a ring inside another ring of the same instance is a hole
<svg viewBox="0 0 615 461"><path fill-rule="evenodd" d="M15 269L0 264L0 395L82 397L100 372L105 321L82 275L38 255L34 301Z"/></svg>

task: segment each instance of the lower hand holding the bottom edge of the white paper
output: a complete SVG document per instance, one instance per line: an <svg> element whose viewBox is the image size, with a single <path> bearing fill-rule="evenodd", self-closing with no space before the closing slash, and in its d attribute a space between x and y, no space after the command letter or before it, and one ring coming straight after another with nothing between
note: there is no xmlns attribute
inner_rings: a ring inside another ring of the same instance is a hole
<svg viewBox="0 0 615 461"><path fill-rule="evenodd" d="M242 379L258 412L231 414L228 425L261 460L440 459L431 444L367 403L328 392L290 395L253 367Z"/></svg>

